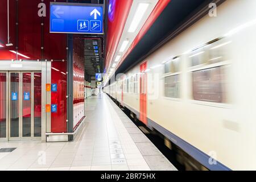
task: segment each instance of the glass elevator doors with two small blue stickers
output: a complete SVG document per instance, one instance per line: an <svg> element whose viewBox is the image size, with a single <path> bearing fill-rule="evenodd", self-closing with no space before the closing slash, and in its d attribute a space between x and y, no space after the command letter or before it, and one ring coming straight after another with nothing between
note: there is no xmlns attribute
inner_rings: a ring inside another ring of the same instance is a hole
<svg viewBox="0 0 256 182"><path fill-rule="evenodd" d="M9 72L9 140L40 140L42 75Z"/></svg>

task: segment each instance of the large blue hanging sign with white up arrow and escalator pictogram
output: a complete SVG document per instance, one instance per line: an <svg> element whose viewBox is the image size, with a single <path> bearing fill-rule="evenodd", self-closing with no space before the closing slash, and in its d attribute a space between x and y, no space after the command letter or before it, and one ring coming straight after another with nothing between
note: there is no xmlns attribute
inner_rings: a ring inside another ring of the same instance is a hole
<svg viewBox="0 0 256 182"><path fill-rule="evenodd" d="M102 5L57 3L50 5L50 32L103 34Z"/></svg>

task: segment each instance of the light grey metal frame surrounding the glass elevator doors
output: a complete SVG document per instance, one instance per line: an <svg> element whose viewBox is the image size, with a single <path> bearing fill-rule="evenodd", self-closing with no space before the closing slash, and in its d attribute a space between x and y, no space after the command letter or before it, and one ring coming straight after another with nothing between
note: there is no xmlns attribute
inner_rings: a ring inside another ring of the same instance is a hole
<svg viewBox="0 0 256 182"><path fill-rule="evenodd" d="M51 113L46 113L46 104L51 101L51 93L46 92L46 84L51 84L51 61L37 61L37 60L30 60L30 61L6 61L0 60L0 72L6 73L6 138L0 138L0 142L2 141L9 141L9 73L10 72L41 72L42 73L42 109L41 109L41 137L38 139L42 142L46 142L46 132L47 129L51 128ZM20 73L20 75L22 75ZM19 78L21 79L21 77ZM34 81L33 81L34 82ZM20 83L21 84L21 83ZM32 88L32 83L31 83ZM20 86L22 89L22 85ZM31 89L32 90L32 89ZM19 97L22 92L19 93ZM21 95L22 97L22 95ZM23 98L23 97L22 97ZM32 100L31 100L32 102ZM34 103L33 103L34 105ZM22 108L20 108L22 109ZM34 109L34 108L33 108ZM20 112L19 114L22 114ZM34 114L34 113L33 113ZM32 115L32 113L31 113ZM32 118L31 118L32 119ZM32 127L32 126L31 126ZM29 137L28 137L29 138ZM12 140L12 139L11 139ZM17 140L17 139L16 139ZM22 139L19 139L22 140ZM25 139L25 140L32 140L32 139Z"/></svg>

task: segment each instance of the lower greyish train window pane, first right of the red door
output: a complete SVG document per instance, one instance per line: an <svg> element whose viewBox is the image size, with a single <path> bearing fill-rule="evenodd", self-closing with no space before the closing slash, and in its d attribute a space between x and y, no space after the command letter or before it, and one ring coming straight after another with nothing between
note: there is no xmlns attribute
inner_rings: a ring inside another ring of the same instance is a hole
<svg viewBox="0 0 256 182"><path fill-rule="evenodd" d="M180 98L180 75L164 78L164 96Z"/></svg>

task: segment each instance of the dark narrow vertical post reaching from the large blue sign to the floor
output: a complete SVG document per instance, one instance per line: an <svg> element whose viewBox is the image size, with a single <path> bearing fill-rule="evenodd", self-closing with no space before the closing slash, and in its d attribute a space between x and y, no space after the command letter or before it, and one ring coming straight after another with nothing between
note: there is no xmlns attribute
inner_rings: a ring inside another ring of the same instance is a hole
<svg viewBox="0 0 256 182"><path fill-rule="evenodd" d="M68 133L73 133L73 35L68 34L68 86L67 86L67 129ZM68 137L68 140L73 140L73 135Z"/></svg>

